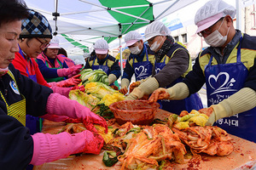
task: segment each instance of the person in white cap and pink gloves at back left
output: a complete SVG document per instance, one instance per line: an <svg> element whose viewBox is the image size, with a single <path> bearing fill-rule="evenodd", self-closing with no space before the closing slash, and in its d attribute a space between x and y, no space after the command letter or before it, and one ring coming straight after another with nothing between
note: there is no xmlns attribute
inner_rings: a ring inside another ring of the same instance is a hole
<svg viewBox="0 0 256 170"><path fill-rule="evenodd" d="M47 82L60 82L76 76L83 67L82 65L75 65L72 59L58 54L60 48L59 39L53 37L49 46L38 55L38 66Z"/></svg>

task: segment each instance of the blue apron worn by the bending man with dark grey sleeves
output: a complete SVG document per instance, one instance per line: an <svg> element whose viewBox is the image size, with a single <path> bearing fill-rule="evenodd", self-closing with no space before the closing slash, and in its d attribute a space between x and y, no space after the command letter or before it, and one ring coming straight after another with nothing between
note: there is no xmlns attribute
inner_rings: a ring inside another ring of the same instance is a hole
<svg viewBox="0 0 256 170"><path fill-rule="evenodd" d="M166 57L164 62L162 63L154 62L155 74L161 71L165 65L166 65ZM183 77L178 77L174 82L172 82L166 88L171 88L177 82L182 82L182 81L183 81ZM186 98L186 99L180 99L180 100L162 99L160 100L159 103L160 103L160 109L163 109L165 111L170 111L177 115L179 115L181 111L189 111L189 112L192 110L198 111L201 108L203 108L200 96L197 93L191 94L189 98Z"/></svg>

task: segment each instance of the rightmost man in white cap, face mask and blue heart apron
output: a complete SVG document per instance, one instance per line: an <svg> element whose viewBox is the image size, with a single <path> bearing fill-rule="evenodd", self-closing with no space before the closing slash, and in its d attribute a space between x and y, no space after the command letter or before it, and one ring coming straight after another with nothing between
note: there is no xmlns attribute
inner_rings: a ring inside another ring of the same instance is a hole
<svg viewBox="0 0 256 170"><path fill-rule="evenodd" d="M208 125L256 142L256 37L233 26L236 8L221 0L207 2L195 14L196 31L211 46L195 60L193 71L172 88L149 99L184 99L207 84ZM217 122L216 122L217 121Z"/></svg>

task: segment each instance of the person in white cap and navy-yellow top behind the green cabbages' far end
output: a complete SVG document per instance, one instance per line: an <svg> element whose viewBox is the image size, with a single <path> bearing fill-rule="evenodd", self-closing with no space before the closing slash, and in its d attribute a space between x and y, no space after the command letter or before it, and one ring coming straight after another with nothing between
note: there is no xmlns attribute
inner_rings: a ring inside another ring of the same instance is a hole
<svg viewBox="0 0 256 170"><path fill-rule="evenodd" d="M118 60L108 54L108 42L104 39L99 39L95 42L95 55L87 59L84 69L105 71L108 75L109 85L121 76L121 70Z"/></svg>

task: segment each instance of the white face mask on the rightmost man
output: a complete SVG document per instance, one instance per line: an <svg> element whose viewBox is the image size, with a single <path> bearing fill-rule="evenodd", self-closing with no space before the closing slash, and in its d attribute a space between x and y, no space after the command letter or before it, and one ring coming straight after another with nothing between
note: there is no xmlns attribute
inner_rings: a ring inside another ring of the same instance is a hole
<svg viewBox="0 0 256 170"><path fill-rule="evenodd" d="M222 21L221 25L218 27L218 30L222 26L223 22L224 20ZM230 27L228 29L227 35L225 36L222 36L218 30L213 31L209 36L205 37L205 41L207 42L207 44L209 44L213 48L223 46L224 42L227 41Z"/></svg>

